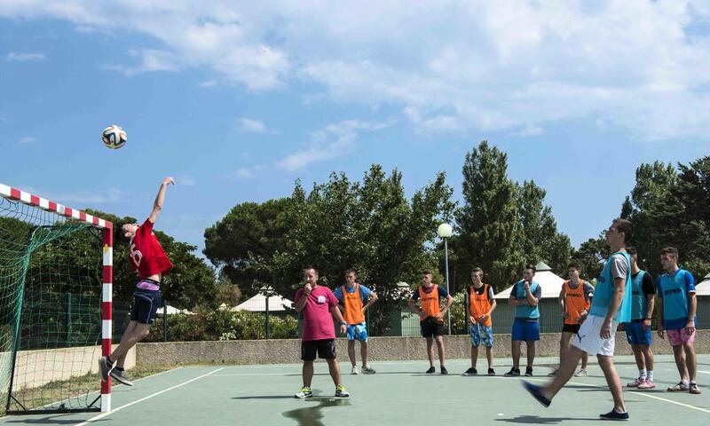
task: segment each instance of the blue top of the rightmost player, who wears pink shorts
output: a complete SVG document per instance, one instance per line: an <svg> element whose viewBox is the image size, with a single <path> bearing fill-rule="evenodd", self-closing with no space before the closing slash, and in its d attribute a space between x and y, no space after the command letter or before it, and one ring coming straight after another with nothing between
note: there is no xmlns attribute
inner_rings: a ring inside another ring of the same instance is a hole
<svg viewBox="0 0 710 426"><path fill-rule="evenodd" d="M663 299L663 326L667 330L685 327L690 315L689 294L695 293L693 274L684 269L678 269L672 275L664 273L659 277L658 286L659 298Z"/></svg>

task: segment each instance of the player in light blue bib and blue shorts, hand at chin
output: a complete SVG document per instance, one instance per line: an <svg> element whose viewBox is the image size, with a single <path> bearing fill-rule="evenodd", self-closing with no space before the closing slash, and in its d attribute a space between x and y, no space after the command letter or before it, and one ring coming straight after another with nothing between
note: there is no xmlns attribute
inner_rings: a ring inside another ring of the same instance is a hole
<svg viewBox="0 0 710 426"><path fill-rule="evenodd" d="M540 340L540 296L542 288L533 281L535 266L525 265L523 280L517 281L510 291L508 304L516 307L516 319L513 320L513 330L510 336L511 352L513 354L513 367L505 375L520 375L520 343L527 345L527 367L525 375L533 375L533 361L535 360L535 342Z"/></svg>

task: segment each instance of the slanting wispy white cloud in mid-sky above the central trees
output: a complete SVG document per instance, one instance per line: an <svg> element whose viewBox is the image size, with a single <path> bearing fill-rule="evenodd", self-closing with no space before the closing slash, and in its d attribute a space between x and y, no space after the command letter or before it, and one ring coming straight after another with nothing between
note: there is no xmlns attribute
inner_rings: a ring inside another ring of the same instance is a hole
<svg viewBox="0 0 710 426"><path fill-rule="evenodd" d="M363 130L381 130L392 122L361 122L347 120L329 124L325 129L312 134L311 144L295 153L288 154L276 163L279 169L296 171L313 162L325 162L350 154L357 145L359 133Z"/></svg>

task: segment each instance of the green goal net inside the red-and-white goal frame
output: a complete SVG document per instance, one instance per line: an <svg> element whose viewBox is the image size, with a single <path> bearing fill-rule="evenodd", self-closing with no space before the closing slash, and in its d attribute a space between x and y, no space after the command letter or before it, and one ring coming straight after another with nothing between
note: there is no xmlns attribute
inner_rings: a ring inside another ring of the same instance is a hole
<svg viewBox="0 0 710 426"><path fill-rule="evenodd" d="M0 197L0 389L9 412L99 408L100 234Z"/></svg>

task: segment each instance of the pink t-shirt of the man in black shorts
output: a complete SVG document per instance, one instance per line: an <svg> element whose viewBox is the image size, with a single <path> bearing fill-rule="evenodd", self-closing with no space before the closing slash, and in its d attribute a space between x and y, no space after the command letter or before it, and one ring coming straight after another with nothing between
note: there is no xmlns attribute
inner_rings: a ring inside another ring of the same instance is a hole
<svg viewBox="0 0 710 426"><path fill-rule="evenodd" d="M294 304L304 296L304 289L299 288L294 297ZM301 340L335 339L333 315L330 308L338 304L338 299L325 286L313 288L304 306L304 335Z"/></svg>

